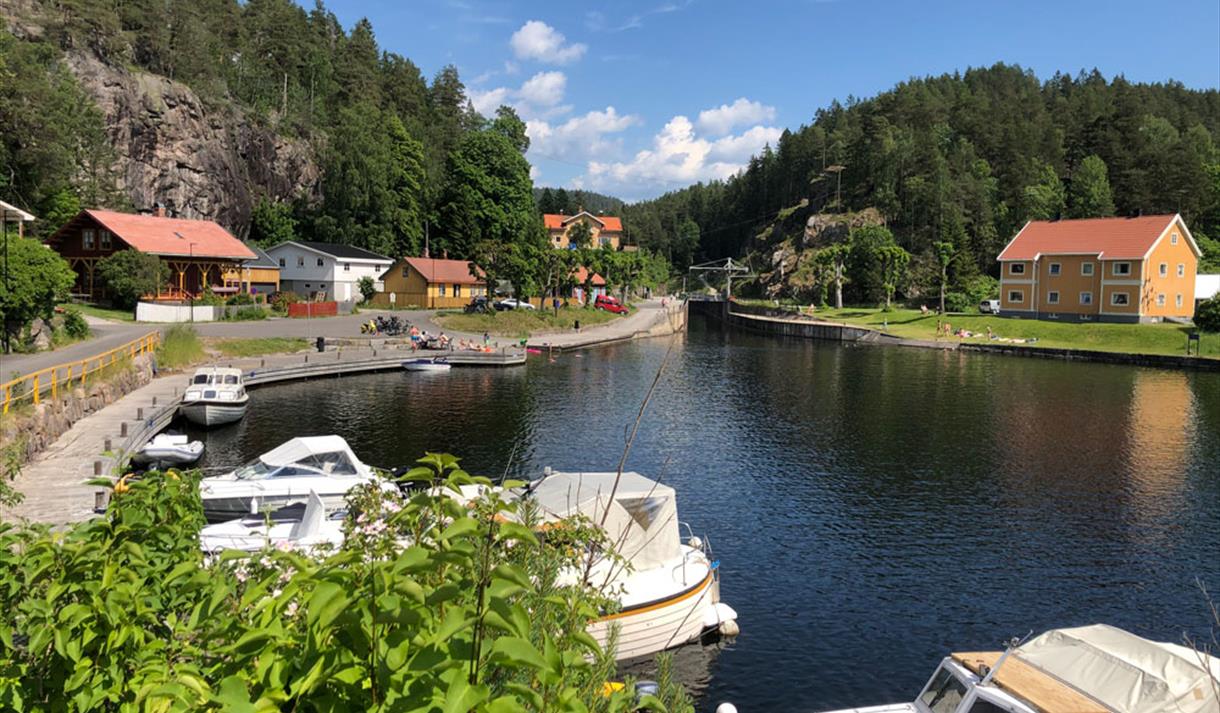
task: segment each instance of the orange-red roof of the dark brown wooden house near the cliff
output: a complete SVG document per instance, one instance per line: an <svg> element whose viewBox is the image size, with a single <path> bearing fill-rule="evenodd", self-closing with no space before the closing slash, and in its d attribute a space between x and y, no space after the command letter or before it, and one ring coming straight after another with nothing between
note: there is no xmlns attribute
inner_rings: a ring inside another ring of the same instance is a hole
<svg viewBox="0 0 1220 713"><path fill-rule="evenodd" d="M210 220L157 217L110 210L85 210L84 215L132 248L151 255L195 255L235 260L257 258L245 243ZM51 239L56 237L57 234Z"/></svg>

